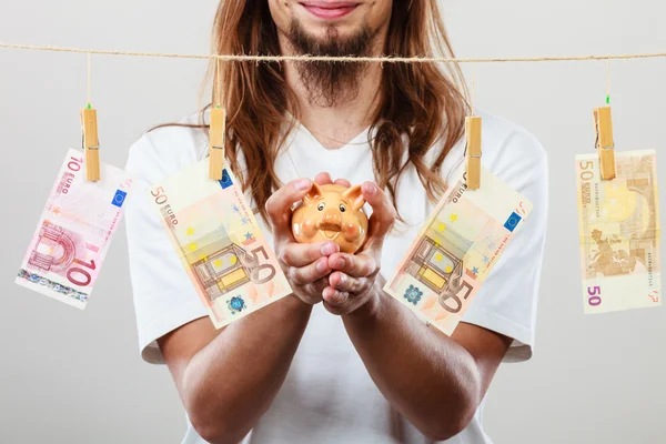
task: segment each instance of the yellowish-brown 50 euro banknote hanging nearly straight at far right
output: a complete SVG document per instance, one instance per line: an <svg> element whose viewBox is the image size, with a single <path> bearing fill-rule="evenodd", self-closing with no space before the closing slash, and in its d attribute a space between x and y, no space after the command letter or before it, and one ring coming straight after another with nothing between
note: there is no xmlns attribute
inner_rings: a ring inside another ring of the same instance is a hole
<svg viewBox="0 0 666 444"><path fill-rule="evenodd" d="M615 153L602 180L598 154L576 157L585 313L662 304L659 196L654 150Z"/></svg>

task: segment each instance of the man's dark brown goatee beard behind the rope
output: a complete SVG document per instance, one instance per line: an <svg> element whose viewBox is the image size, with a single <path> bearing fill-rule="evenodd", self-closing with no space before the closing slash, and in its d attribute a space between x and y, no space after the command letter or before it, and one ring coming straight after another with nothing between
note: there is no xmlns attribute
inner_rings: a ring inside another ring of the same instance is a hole
<svg viewBox="0 0 666 444"><path fill-rule="evenodd" d="M372 34L364 26L356 34L341 39L337 28L329 27L324 41L307 34L299 21L293 20L290 42L301 54L331 57L365 57L370 54ZM305 61L295 62L311 104L334 107L359 95L359 78L366 62Z"/></svg>

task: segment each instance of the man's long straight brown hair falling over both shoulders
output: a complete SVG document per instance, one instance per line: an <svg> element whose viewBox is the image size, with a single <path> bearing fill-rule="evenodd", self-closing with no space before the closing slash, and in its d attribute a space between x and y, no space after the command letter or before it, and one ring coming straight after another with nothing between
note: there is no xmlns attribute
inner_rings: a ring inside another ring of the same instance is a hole
<svg viewBox="0 0 666 444"><path fill-rule="evenodd" d="M280 54L278 30L268 1L221 1L212 47L218 54ZM436 0L394 0L383 52L395 57L453 57ZM243 190L251 189L265 220L265 202L282 185L274 163L289 133L285 124L290 131L293 128L286 111L299 115L295 97L280 62L212 61L209 77L215 71L220 80L214 82L213 98L219 93L228 112L229 163ZM221 91L216 91L218 84L222 85ZM394 204L397 182L410 163L416 169L428 199L434 202L441 196L445 189L442 162L464 132L468 110L464 90L457 64L383 64L379 107L372 117L370 134L374 135L371 145L375 180L389 190ZM428 163L425 154L438 140L443 141L443 149L436 153L434 163Z"/></svg>

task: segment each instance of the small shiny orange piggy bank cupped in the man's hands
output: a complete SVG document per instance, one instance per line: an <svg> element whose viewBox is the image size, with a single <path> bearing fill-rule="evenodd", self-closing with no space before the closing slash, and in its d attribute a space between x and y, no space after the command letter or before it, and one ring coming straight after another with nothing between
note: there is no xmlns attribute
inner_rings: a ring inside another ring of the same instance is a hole
<svg viewBox="0 0 666 444"><path fill-rule="evenodd" d="M333 241L344 253L355 253L367 235L367 215L361 185L320 185L303 198L292 214L292 232L296 242Z"/></svg>

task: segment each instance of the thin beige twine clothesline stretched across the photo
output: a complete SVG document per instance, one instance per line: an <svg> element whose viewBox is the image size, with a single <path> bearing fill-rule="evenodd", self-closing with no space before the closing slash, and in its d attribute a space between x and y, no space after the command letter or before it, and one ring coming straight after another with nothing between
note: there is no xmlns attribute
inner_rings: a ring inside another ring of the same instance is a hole
<svg viewBox="0 0 666 444"><path fill-rule="evenodd" d="M81 48L40 47L32 44L0 43L0 48L23 49L33 51L74 52L102 56L154 57L164 59L218 59L219 61L323 61L323 62L379 62L379 63L505 63L505 62L556 62L556 61L586 61L586 60L626 60L626 59L657 59L666 58L666 52L647 52L633 54L607 56L566 56L566 57L516 57L516 58L440 58L440 57L332 57L332 56L252 56L252 54L183 54L169 52L137 52L110 51Z"/></svg>

